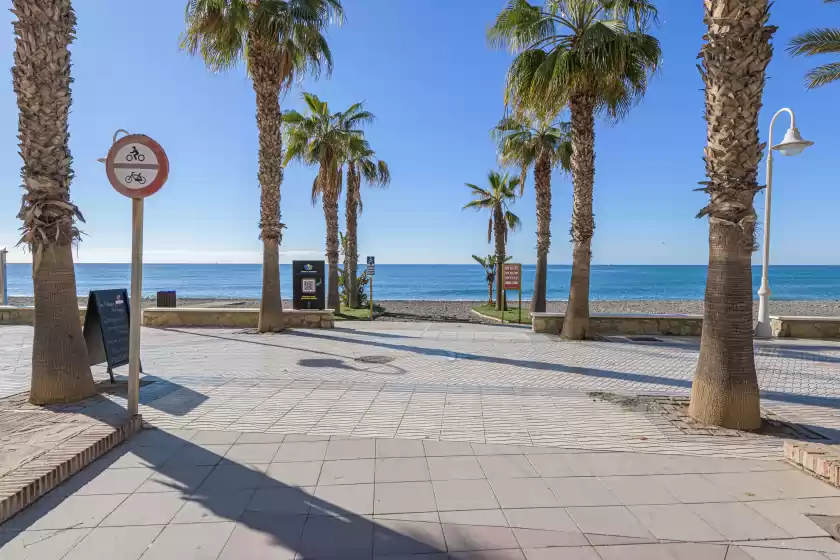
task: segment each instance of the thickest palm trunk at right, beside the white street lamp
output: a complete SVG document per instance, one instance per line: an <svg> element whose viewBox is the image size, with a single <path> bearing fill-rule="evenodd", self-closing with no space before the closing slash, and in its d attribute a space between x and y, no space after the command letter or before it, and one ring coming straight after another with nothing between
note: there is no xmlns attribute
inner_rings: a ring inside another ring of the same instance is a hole
<svg viewBox="0 0 840 560"><path fill-rule="evenodd" d="M689 413L705 424L752 429L761 425L752 336L753 198L762 188L758 117L776 28L767 26L769 0L706 0L705 9L700 54L708 180L701 190L710 201L698 217L709 217L709 268Z"/></svg>

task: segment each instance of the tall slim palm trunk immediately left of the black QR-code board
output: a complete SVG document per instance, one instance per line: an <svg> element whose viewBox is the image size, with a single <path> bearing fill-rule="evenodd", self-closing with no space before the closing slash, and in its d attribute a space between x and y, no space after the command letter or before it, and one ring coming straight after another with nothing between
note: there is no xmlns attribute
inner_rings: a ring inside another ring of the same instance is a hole
<svg viewBox="0 0 840 560"><path fill-rule="evenodd" d="M255 34L252 33L251 36ZM263 242L262 298L259 332L284 328L283 301L280 298L280 183L283 182L280 135L280 62L257 41L249 43L249 67L257 97L259 130L260 239Z"/></svg>

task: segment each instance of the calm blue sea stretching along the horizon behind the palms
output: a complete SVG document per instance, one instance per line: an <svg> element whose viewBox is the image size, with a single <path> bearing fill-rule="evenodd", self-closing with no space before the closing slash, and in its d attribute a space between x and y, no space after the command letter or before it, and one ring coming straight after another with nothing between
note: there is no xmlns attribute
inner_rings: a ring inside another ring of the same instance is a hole
<svg viewBox="0 0 840 560"><path fill-rule="evenodd" d="M143 295L175 290L179 298L251 299L260 297L261 265L147 264ZM362 270L362 267L359 269ZM31 266L9 264L9 296L32 296ZM534 266L523 266L523 294L530 299ZM757 290L760 267L753 267ZM570 265L548 267L548 299L569 296ZM291 298L290 265L280 267L281 292ZM593 265L594 300L699 300L705 266ZM78 295L91 290L130 287L128 264L77 264ZM771 266L770 286L776 300L840 300L840 266ZM378 264L374 276L378 300L482 300L487 297L484 270L478 264Z"/></svg>

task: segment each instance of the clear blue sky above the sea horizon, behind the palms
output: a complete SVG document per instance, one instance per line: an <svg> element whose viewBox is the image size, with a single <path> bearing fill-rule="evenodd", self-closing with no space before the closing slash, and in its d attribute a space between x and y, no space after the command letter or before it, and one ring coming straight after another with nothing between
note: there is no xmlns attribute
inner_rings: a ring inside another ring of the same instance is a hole
<svg viewBox="0 0 840 560"><path fill-rule="evenodd" d="M306 80L283 100L300 108L303 89L336 109L364 100L377 117L368 138L391 167L389 189L366 189L360 252L379 263L462 263L487 254L483 214L462 211L464 182L482 183L496 166L489 130L502 114L510 55L490 49L487 27L503 0L344 0L345 25L329 33L335 53L330 79ZM208 73L178 49L183 0L75 0L72 196L87 236L81 262L127 262L130 202L108 184L103 166L113 132L146 133L167 150L169 182L146 201L146 262L259 262L259 187L254 94L243 70ZM600 123L594 240L596 263L702 264L705 204L692 192L704 179L706 124L696 56L704 32L702 2L660 0L664 66L626 120ZM8 11L0 12L2 64L12 65ZM806 92L803 76L815 59L785 52L790 37L821 25L840 26L840 8L820 0L778 0L772 23L776 52L765 89L762 135L776 109L797 112L816 146L795 159L777 158L773 199L773 262L840 264L837 180L837 96L840 84ZM18 239L20 159L11 77L0 88L0 246ZM783 119L780 119L783 120ZM781 138L786 122L777 124ZM309 192L314 169L290 166L282 186L288 225L282 260L323 255L324 220ZM761 177L763 178L763 165ZM571 259L571 181L556 173L550 255ZM763 215L764 196L756 199ZM535 258L533 188L513 210L522 231L509 253ZM342 212L343 215L343 212ZM756 257L758 254L756 254ZM28 255L11 248L10 260Z"/></svg>

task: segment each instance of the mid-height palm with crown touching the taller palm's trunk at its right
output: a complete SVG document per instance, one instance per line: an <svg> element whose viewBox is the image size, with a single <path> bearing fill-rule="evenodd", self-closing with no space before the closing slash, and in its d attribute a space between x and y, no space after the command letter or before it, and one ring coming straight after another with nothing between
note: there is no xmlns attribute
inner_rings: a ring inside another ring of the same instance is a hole
<svg viewBox="0 0 840 560"><path fill-rule="evenodd" d="M499 144L502 165L520 169L520 196L525 178L534 167L534 190L537 197L537 274L531 312L545 311L548 276L548 248L551 245L551 169L557 165L571 170L572 142L569 123L519 113L502 119L493 134Z"/></svg>

